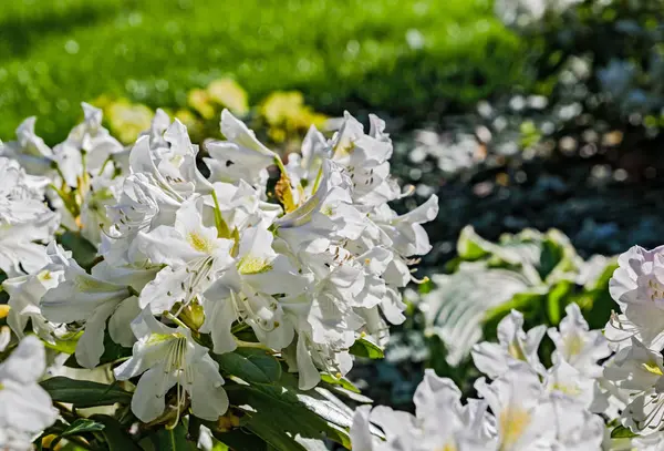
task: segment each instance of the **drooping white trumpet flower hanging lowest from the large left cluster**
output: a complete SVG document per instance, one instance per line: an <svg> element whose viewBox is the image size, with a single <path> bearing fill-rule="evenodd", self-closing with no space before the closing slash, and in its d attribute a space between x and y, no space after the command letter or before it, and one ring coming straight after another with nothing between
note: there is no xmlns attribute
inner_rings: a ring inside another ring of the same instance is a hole
<svg viewBox="0 0 664 451"><path fill-rule="evenodd" d="M138 340L132 358L114 372L117 380L142 375L132 398L132 411L141 421L153 421L164 412L166 392L173 387L177 387L178 412L187 394L191 412L201 419L215 421L226 412L228 397L218 365L207 348L191 339L189 329L167 327L148 310L132 322L132 329Z"/></svg>

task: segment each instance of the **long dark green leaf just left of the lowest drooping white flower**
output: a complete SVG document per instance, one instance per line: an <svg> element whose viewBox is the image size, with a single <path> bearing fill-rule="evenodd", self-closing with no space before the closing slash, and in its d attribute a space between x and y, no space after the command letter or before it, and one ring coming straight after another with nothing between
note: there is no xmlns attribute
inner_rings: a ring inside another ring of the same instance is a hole
<svg viewBox="0 0 664 451"><path fill-rule="evenodd" d="M129 403L132 393L116 386L69 379L58 376L41 382L53 401L72 403L77 408Z"/></svg>

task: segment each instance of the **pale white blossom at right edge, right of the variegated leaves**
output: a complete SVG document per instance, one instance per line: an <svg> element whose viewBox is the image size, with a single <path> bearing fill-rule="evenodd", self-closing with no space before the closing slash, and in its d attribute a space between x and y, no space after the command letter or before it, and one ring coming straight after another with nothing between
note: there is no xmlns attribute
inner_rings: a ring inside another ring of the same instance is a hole
<svg viewBox="0 0 664 451"><path fill-rule="evenodd" d="M634 246L618 258L609 290L622 315L606 324L606 339L618 348L639 338L645 346L664 348L664 247Z"/></svg>

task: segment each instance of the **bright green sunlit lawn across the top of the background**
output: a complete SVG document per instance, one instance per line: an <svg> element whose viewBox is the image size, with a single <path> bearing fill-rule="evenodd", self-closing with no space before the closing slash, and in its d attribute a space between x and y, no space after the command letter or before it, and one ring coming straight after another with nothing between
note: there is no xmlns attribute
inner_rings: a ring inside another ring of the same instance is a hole
<svg viewBox="0 0 664 451"><path fill-rule="evenodd" d="M189 89L224 75L252 102L298 89L332 114L417 122L508 88L518 49L490 0L8 0L0 139L29 115L46 141L63 139L79 103L101 94L184 105Z"/></svg>

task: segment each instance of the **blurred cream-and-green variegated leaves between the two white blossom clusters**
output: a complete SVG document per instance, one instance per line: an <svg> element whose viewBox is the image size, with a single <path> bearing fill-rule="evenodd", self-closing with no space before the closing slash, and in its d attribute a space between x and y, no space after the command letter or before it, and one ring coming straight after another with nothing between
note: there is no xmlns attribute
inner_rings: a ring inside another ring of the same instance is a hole
<svg viewBox="0 0 664 451"><path fill-rule="evenodd" d="M468 226L457 250L448 264L452 274L433 276L435 288L421 304L427 331L445 345L452 367L463 363L480 339L494 339L512 309L530 325L556 326L571 303L602 320L608 315L600 311L613 305L608 284L614 263L599 256L583 260L559 230L525 229L491 243Z"/></svg>

